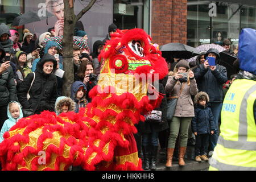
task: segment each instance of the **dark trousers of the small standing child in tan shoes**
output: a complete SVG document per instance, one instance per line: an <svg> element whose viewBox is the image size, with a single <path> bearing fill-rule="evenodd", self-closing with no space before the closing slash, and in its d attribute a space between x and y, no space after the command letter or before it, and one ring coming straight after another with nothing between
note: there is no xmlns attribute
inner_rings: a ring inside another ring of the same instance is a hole
<svg viewBox="0 0 256 182"><path fill-rule="evenodd" d="M209 134L196 135L195 156L205 155L205 146L208 146Z"/></svg>

